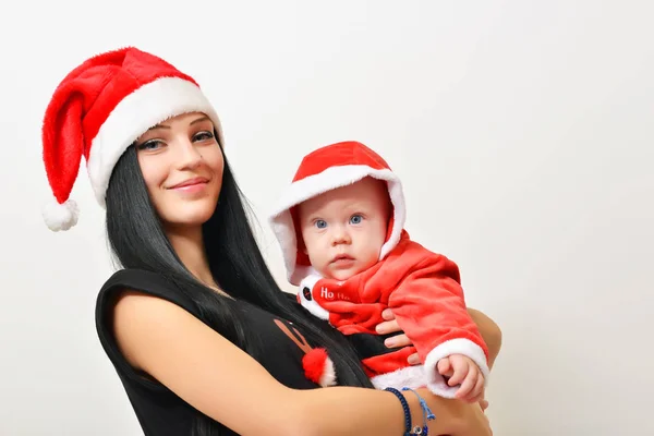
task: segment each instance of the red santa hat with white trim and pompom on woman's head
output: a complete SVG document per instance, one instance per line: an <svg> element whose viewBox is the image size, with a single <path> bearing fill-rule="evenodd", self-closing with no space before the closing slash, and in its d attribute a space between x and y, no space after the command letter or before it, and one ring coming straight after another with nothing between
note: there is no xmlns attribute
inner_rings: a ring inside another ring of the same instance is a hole
<svg viewBox="0 0 654 436"><path fill-rule="evenodd" d="M105 207L113 167L149 128L179 114L203 112L223 144L220 120L189 75L133 47L97 55L59 84L43 124L44 162L53 201L44 210L47 226L68 230L77 222L70 198L82 156L94 194Z"/></svg>

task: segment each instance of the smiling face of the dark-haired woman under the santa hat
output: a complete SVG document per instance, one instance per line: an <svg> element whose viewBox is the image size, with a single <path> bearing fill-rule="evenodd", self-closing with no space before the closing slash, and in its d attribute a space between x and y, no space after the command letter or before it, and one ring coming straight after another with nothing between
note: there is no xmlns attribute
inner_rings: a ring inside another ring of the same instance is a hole
<svg viewBox="0 0 654 436"><path fill-rule="evenodd" d="M206 222L218 203L225 166L209 118L201 112L171 118L141 135L135 146L164 226Z"/></svg>

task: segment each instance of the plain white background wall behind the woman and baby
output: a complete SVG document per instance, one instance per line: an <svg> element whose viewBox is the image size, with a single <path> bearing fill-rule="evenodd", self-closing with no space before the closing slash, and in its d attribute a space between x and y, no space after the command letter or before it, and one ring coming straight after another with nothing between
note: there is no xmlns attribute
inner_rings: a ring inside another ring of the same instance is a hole
<svg viewBox="0 0 654 436"><path fill-rule="evenodd" d="M126 45L215 102L282 284L272 199L303 154L362 141L403 179L411 235L460 265L469 304L504 331L495 434L654 434L652 2L10 4L0 434L142 434L95 331L111 265L84 170L77 227L52 233L40 218L51 93Z"/></svg>

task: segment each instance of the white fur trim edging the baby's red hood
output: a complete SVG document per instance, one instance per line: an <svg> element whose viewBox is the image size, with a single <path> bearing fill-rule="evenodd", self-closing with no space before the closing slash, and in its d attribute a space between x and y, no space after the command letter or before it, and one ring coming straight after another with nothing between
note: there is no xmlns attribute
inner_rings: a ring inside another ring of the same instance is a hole
<svg viewBox="0 0 654 436"><path fill-rule="evenodd" d="M377 170L365 165L327 168L318 174L310 175L292 183L269 219L272 231L277 234L277 239L281 245L287 276L292 284L296 286L300 280L310 274L311 268L295 265L298 241L290 208L318 194L352 184L365 177L388 182L388 194L393 206L392 231L388 241L382 246L379 259L386 257L400 241L407 217L404 194L400 179L388 169Z"/></svg>

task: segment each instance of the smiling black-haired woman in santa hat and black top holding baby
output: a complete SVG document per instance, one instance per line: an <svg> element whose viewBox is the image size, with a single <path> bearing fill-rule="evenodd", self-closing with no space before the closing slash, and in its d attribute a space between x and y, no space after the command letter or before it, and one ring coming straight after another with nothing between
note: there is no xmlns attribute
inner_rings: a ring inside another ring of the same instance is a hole
<svg viewBox="0 0 654 436"><path fill-rule="evenodd" d="M370 389L344 338L280 291L220 121L192 77L135 48L93 57L58 86L43 137L50 229L76 223L69 196L82 156L106 207L124 269L99 292L97 330L146 435L395 436L423 424L413 392ZM486 338L498 337L474 315ZM392 320L383 328L399 331ZM316 389L304 377L312 347L329 349L340 386ZM432 434L491 434L479 405L417 393L437 416Z"/></svg>

